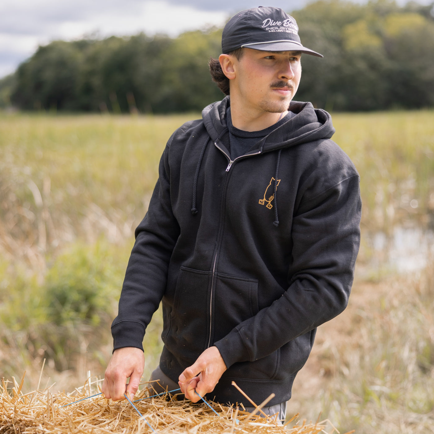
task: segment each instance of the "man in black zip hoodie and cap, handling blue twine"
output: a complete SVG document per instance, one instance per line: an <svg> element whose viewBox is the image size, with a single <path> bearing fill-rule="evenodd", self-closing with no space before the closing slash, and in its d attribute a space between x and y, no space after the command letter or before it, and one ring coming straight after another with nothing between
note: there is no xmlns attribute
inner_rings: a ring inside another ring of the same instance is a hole
<svg viewBox="0 0 434 434"><path fill-rule="evenodd" d="M168 141L136 229L105 374L107 398L138 388L141 342L163 304L152 378L196 402L256 403L284 418L316 327L345 309L359 246L357 171L330 140L330 115L292 102L295 20L259 7L225 26L214 81L229 94ZM178 381L178 384L177 384Z"/></svg>

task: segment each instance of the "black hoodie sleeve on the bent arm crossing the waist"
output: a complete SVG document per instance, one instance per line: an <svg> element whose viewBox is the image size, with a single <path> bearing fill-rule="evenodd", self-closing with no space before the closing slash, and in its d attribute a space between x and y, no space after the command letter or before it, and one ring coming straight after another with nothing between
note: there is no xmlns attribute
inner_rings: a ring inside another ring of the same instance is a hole
<svg viewBox="0 0 434 434"><path fill-rule="evenodd" d="M240 323L214 345L227 367L276 351L342 312L348 303L360 243L357 172L306 189L293 219L290 285L269 307Z"/></svg>

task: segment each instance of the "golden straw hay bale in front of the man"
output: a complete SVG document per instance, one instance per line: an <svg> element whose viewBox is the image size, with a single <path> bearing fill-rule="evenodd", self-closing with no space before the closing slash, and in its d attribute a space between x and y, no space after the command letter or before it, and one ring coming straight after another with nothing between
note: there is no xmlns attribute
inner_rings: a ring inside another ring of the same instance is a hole
<svg viewBox="0 0 434 434"><path fill-rule="evenodd" d="M20 384L2 379L0 385L1 434L61 433L289 433L318 434L338 432L329 421L288 428L275 418L252 415L242 408L225 407L210 402L197 404L184 395L165 394L152 397L152 388L143 388L135 397L135 406L126 399L114 402L100 394L99 382L87 381L72 393L51 393L50 388L23 394L24 377ZM97 395L95 395L97 394ZM95 395L95 396L92 396ZM143 399L142 399L143 398ZM137 401L140 399L140 401ZM82 400L82 401L79 401ZM294 416L293 420L297 417ZM148 425L149 424L149 425Z"/></svg>

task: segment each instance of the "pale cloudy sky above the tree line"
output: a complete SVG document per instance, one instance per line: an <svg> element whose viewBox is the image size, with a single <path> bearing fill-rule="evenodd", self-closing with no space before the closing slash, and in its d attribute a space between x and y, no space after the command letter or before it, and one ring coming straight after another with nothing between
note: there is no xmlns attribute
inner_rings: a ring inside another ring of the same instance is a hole
<svg viewBox="0 0 434 434"><path fill-rule="evenodd" d="M258 4L258 1L260 2ZM357 0L355 0L357 1ZM363 1L363 0L359 0ZM429 1L429 0L426 0ZM257 6L286 11L308 0L0 0L0 78L29 58L39 45L83 36L170 36L223 26L236 12Z"/></svg>

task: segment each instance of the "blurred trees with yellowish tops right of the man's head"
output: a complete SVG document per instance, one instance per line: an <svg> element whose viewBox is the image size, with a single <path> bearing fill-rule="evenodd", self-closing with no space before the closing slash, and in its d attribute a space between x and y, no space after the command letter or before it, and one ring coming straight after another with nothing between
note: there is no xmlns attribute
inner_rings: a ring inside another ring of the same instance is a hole
<svg viewBox="0 0 434 434"><path fill-rule="evenodd" d="M332 0L294 12L302 42L325 56L303 56L297 99L341 111L432 107L431 7Z"/></svg>

